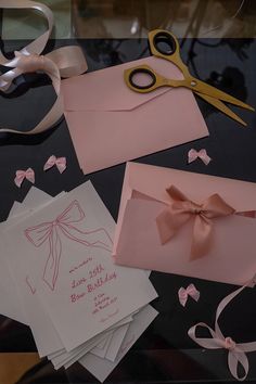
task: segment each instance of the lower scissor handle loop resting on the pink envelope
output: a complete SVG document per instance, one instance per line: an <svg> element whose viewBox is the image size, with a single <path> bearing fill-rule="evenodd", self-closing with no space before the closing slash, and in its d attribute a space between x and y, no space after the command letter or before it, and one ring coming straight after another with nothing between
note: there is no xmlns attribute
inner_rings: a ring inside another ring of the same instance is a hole
<svg viewBox="0 0 256 384"><path fill-rule="evenodd" d="M136 81L135 76L145 74L149 77L146 85L140 85ZM132 68L125 69L124 73L126 85L136 92L148 93L156 88L168 86L168 79L158 75L149 65L133 66Z"/></svg>

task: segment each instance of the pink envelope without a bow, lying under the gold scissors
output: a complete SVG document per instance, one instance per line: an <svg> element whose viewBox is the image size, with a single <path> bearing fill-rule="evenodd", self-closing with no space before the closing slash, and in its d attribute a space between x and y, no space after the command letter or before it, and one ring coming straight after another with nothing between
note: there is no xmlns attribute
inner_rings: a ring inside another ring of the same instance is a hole
<svg viewBox="0 0 256 384"><path fill-rule="evenodd" d="M139 64L182 78L174 64L152 56L62 81L64 113L85 174L208 136L190 90L141 94L126 86L124 71Z"/></svg>

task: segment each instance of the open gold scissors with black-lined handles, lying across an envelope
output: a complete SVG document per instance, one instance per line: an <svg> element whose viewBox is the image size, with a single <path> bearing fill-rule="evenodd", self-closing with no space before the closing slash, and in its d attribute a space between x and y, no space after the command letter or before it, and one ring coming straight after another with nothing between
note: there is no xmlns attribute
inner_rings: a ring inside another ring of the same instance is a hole
<svg viewBox="0 0 256 384"><path fill-rule="evenodd" d="M195 92L200 98L214 105L216 108L233 118L234 120L246 126L235 113L233 113L223 102L238 105L240 107L255 111L255 108L248 104L243 103L239 99L220 91L219 89L209 86L208 84L199 80L193 77L188 66L182 62L180 57L180 47L177 38L164 29L154 29L149 33L150 49L154 56L168 60L174 63L183 74L183 80L174 80L157 74L149 65L139 65L125 71L126 85L136 92L146 93L159 87L185 87ZM139 85L136 82L136 75L146 74L150 76L150 82L146 85Z"/></svg>

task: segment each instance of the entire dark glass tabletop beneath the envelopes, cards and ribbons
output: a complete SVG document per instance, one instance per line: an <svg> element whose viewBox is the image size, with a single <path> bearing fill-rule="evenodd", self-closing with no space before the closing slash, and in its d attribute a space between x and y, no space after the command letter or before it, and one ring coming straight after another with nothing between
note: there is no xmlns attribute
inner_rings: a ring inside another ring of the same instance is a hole
<svg viewBox="0 0 256 384"><path fill-rule="evenodd" d="M78 43L89 72L149 56L148 33L171 30L181 44L181 56L191 73L217 88L256 105L256 2L253 0L44 0L54 12L55 27L48 50ZM1 2L0 2L1 3ZM47 28L35 11L4 10L1 13L2 47L7 54L21 49ZM38 75L21 79L20 92L0 93L0 125L23 129L40 120L54 100L49 80ZM196 98L209 137L137 159L139 163L256 182L255 114L233 108L248 124L235 125L209 104ZM34 113L30 113L33 106ZM169 116L171 119L171 116ZM91 180L114 219L117 219L125 165L84 176L79 169L65 120L40 137L0 138L0 218L7 219L14 201L27 190L13 187L17 166L34 164L36 185L56 195ZM187 164L193 148L207 148L213 158L206 167ZM49 152L65 153L69 172L60 182L40 174L41 158ZM41 175L41 176L40 176ZM196 188L193 187L192 188ZM253 271L252 271L253 272ZM188 336L191 325L203 321L214 327L219 302L235 286L153 271L150 277L158 298L152 305L159 315L131 347L106 383L233 383L225 349L202 349ZM201 292L199 303L185 308L178 303L178 290L193 282ZM220 318L225 334L241 342L256 341L254 303L256 293L244 292ZM97 383L79 363L55 371L39 359L29 328L0 317L0 382ZM256 383L256 353L247 355L245 382Z"/></svg>

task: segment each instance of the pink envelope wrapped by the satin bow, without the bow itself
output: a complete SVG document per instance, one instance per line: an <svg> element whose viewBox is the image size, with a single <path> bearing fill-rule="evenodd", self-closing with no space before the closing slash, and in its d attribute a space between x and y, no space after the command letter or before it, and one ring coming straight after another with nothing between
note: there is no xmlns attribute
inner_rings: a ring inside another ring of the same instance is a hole
<svg viewBox="0 0 256 384"><path fill-rule="evenodd" d="M232 215L214 221L210 252L190 260L193 220L165 245L155 218L170 202L174 184L203 203L218 193L238 212L256 209L256 184L176 169L128 163L114 241L118 265L153 269L232 284L244 284L256 270L256 219Z"/></svg>

